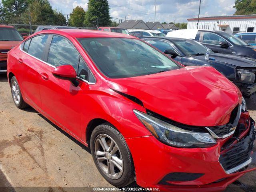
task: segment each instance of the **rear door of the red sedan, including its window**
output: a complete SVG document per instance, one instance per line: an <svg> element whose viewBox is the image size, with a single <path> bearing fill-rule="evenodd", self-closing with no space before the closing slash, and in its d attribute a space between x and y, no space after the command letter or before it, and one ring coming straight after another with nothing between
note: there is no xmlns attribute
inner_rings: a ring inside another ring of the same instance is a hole
<svg viewBox="0 0 256 192"><path fill-rule="evenodd" d="M17 78L21 83L23 97L36 109L40 109L41 106L38 84L47 39L48 35L38 35L26 40L21 45L24 54L18 55L21 72Z"/></svg>

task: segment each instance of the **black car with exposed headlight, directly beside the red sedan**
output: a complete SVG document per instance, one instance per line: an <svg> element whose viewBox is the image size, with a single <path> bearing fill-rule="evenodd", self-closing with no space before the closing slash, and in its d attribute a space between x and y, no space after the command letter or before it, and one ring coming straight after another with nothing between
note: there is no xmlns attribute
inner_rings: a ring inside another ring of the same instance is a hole
<svg viewBox="0 0 256 192"><path fill-rule="evenodd" d="M185 66L212 66L240 88L242 94L250 97L256 91L256 60L211 50L206 60L206 48L202 44L182 38L148 37L142 40L169 54Z"/></svg>

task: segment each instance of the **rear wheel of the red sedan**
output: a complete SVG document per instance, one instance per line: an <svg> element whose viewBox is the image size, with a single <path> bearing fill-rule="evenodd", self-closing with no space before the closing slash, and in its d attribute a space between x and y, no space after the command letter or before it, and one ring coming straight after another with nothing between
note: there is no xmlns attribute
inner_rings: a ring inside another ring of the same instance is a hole
<svg viewBox="0 0 256 192"><path fill-rule="evenodd" d="M16 107L18 107L19 109L28 107L28 104L26 104L22 98L22 94L20 92L20 86L15 76L13 76L11 79L11 91L12 91L12 99Z"/></svg>

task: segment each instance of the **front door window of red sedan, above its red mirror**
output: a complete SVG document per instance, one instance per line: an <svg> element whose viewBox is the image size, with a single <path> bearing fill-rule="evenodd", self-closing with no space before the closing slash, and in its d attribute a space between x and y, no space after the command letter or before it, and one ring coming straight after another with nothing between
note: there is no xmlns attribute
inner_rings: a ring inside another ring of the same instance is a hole
<svg viewBox="0 0 256 192"><path fill-rule="evenodd" d="M68 40L60 36L53 36L47 60L49 64L55 67L72 65L77 70L79 58L78 52Z"/></svg>

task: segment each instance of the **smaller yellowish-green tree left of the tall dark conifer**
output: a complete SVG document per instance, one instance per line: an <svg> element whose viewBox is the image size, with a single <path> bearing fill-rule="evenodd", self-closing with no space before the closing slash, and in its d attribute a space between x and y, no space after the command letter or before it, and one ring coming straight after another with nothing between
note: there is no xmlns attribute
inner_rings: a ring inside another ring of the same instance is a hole
<svg viewBox="0 0 256 192"><path fill-rule="evenodd" d="M68 20L68 24L70 26L83 26L83 20L86 12L85 10L80 7L76 6L76 8L73 9L72 13L70 14L70 18Z"/></svg>

